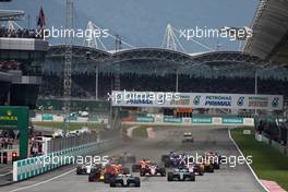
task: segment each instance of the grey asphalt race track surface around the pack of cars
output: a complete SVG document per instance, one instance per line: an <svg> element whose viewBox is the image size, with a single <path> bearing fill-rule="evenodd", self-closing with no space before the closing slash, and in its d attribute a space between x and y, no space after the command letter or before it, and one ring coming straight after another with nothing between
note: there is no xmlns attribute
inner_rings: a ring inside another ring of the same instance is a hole
<svg viewBox="0 0 288 192"><path fill-rule="evenodd" d="M183 132L191 131L194 143L182 144ZM225 156L239 156L239 152L229 140L227 128L191 127L156 129L154 140L137 140L101 155L131 153L141 158L160 163L160 156L168 152L202 154L217 151ZM131 168L131 165L128 165ZM139 173L135 173L139 176ZM196 181L168 182L166 177L142 177L141 188L111 189L105 183L87 181L87 176L76 176L74 166L65 166L56 171L0 188L1 192L257 192L264 191L247 165L221 165L214 173L196 176Z"/></svg>

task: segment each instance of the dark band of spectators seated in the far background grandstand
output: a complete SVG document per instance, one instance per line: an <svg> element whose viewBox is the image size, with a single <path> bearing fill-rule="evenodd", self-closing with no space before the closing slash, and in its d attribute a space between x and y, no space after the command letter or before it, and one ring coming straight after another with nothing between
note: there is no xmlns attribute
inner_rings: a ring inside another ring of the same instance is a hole
<svg viewBox="0 0 288 192"><path fill-rule="evenodd" d="M63 95L63 79L61 76L63 75L52 72L44 73L40 96L61 97ZM74 73L72 75L72 97L88 98L94 96L95 77L94 73ZM98 95L100 98L106 98L107 93L113 89L115 75L99 73L98 77ZM178 82L178 92L254 94L253 77L207 79L181 74ZM120 75L120 85L121 89L127 91L175 92L176 75L124 73ZM288 80L259 79L257 93L288 96Z"/></svg>

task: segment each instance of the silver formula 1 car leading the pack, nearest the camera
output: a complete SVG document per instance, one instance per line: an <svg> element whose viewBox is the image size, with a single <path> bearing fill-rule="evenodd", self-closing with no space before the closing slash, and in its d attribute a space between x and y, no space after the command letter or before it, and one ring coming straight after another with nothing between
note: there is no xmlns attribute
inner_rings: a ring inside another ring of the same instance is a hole
<svg viewBox="0 0 288 192"><path fill-rule="evenodd" d="M110 187L135 187L140 188L140 178L132 175L117 175L111 178Z"/></svg>

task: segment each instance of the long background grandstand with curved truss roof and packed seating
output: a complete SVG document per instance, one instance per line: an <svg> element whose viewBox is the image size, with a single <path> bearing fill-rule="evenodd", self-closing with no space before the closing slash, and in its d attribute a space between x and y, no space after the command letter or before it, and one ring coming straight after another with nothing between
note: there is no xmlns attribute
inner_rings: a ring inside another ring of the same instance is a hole
<svg viewBox="0 0 288 192"><path fill-rule="evenodd" d="M64 46L50 47L44 63L40 96L62 97ZM168 49L139 48L109 53L94 49L94 60L74 47L72 97L95 98L95 64L99 67L99 98L115 88L120 64L120 88L154 92L283 94L288 96L287 68L243 52L187 55ZM257 84L255 87L255 77Z"/></svg>

